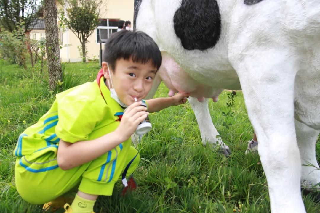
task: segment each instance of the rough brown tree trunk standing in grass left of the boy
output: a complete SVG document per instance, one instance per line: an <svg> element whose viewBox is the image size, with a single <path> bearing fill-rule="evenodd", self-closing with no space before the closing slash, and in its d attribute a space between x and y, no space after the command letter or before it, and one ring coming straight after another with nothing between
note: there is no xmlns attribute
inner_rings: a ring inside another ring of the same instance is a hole
<svg viewBox="0 0 320 213"><path fill-rule="evenodd" d="M44 30L46 51L48 56L49 88L59 87L58 80L62 81L60 62L60 46L58 36L57 7L55 0L44 0Z"/></svg>

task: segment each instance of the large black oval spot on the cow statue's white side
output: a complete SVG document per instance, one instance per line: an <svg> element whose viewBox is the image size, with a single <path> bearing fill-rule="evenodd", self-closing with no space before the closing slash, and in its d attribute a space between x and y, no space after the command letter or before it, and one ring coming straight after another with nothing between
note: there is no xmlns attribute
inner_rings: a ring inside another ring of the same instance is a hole
<svg viewBox="0 0 320 213"><path fill-rule="evenodd" d="M216 0L182 0L173 23L183 48L212 48L220 37L219 5Z"/></svg>

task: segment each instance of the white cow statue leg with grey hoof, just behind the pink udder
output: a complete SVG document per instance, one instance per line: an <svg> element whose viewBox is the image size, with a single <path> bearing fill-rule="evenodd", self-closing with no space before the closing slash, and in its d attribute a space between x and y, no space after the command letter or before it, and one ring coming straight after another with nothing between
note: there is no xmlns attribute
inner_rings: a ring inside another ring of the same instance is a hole
<svg viewBox="0 0 320 213"><path fill-rule="evenodd" d="M220 137L217 138L219 133L212 123L209 112L209 99L205 98L204 102L199 102L197 98L189 97L188 101L196 115L203 144L209 143L215 146L218 141L223 154L230 154L229 147L222 142Z"/></svg>

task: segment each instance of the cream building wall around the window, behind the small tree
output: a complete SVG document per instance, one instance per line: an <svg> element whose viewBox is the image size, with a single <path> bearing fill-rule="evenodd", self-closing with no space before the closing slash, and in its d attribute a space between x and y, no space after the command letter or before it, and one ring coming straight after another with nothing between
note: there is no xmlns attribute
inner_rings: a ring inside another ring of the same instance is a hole
<svg viewBox="0 0 320 213"><path fill-rule="evenodd" d="M123 19L130 20L133 24L133 0L104 0L107 2L106 8L102 9L101 17L104 19ZM132 26L133 27L133 26ZM60 49L61 61L77 62L81 61L78 46L81 48L81 43L76 35L68 30L62 34L64 47ZM97 44L96 30L88 38L86 49L88 51L87 58L99 58L100 44ZM67 45L67 46L65 46ZM103 49L102 44L102 49Z"/></svg>

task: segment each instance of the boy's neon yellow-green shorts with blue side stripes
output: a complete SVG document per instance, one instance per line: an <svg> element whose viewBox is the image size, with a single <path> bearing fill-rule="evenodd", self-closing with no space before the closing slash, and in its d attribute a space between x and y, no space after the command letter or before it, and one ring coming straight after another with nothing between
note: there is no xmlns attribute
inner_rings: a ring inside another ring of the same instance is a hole
<svg viewBox="0 0 320 213"><path fill-rule="evenodd" d="M58 167L57 151L57 147L51 147L45 155L37 156L34 152L17 158L16 187L26 201L43 204L77 186L87 194L111 195L115 182L137 154L128 139L95 160L64 171ZM139 160L138 154L128 169L128 175L137 168Z"/></svg>

